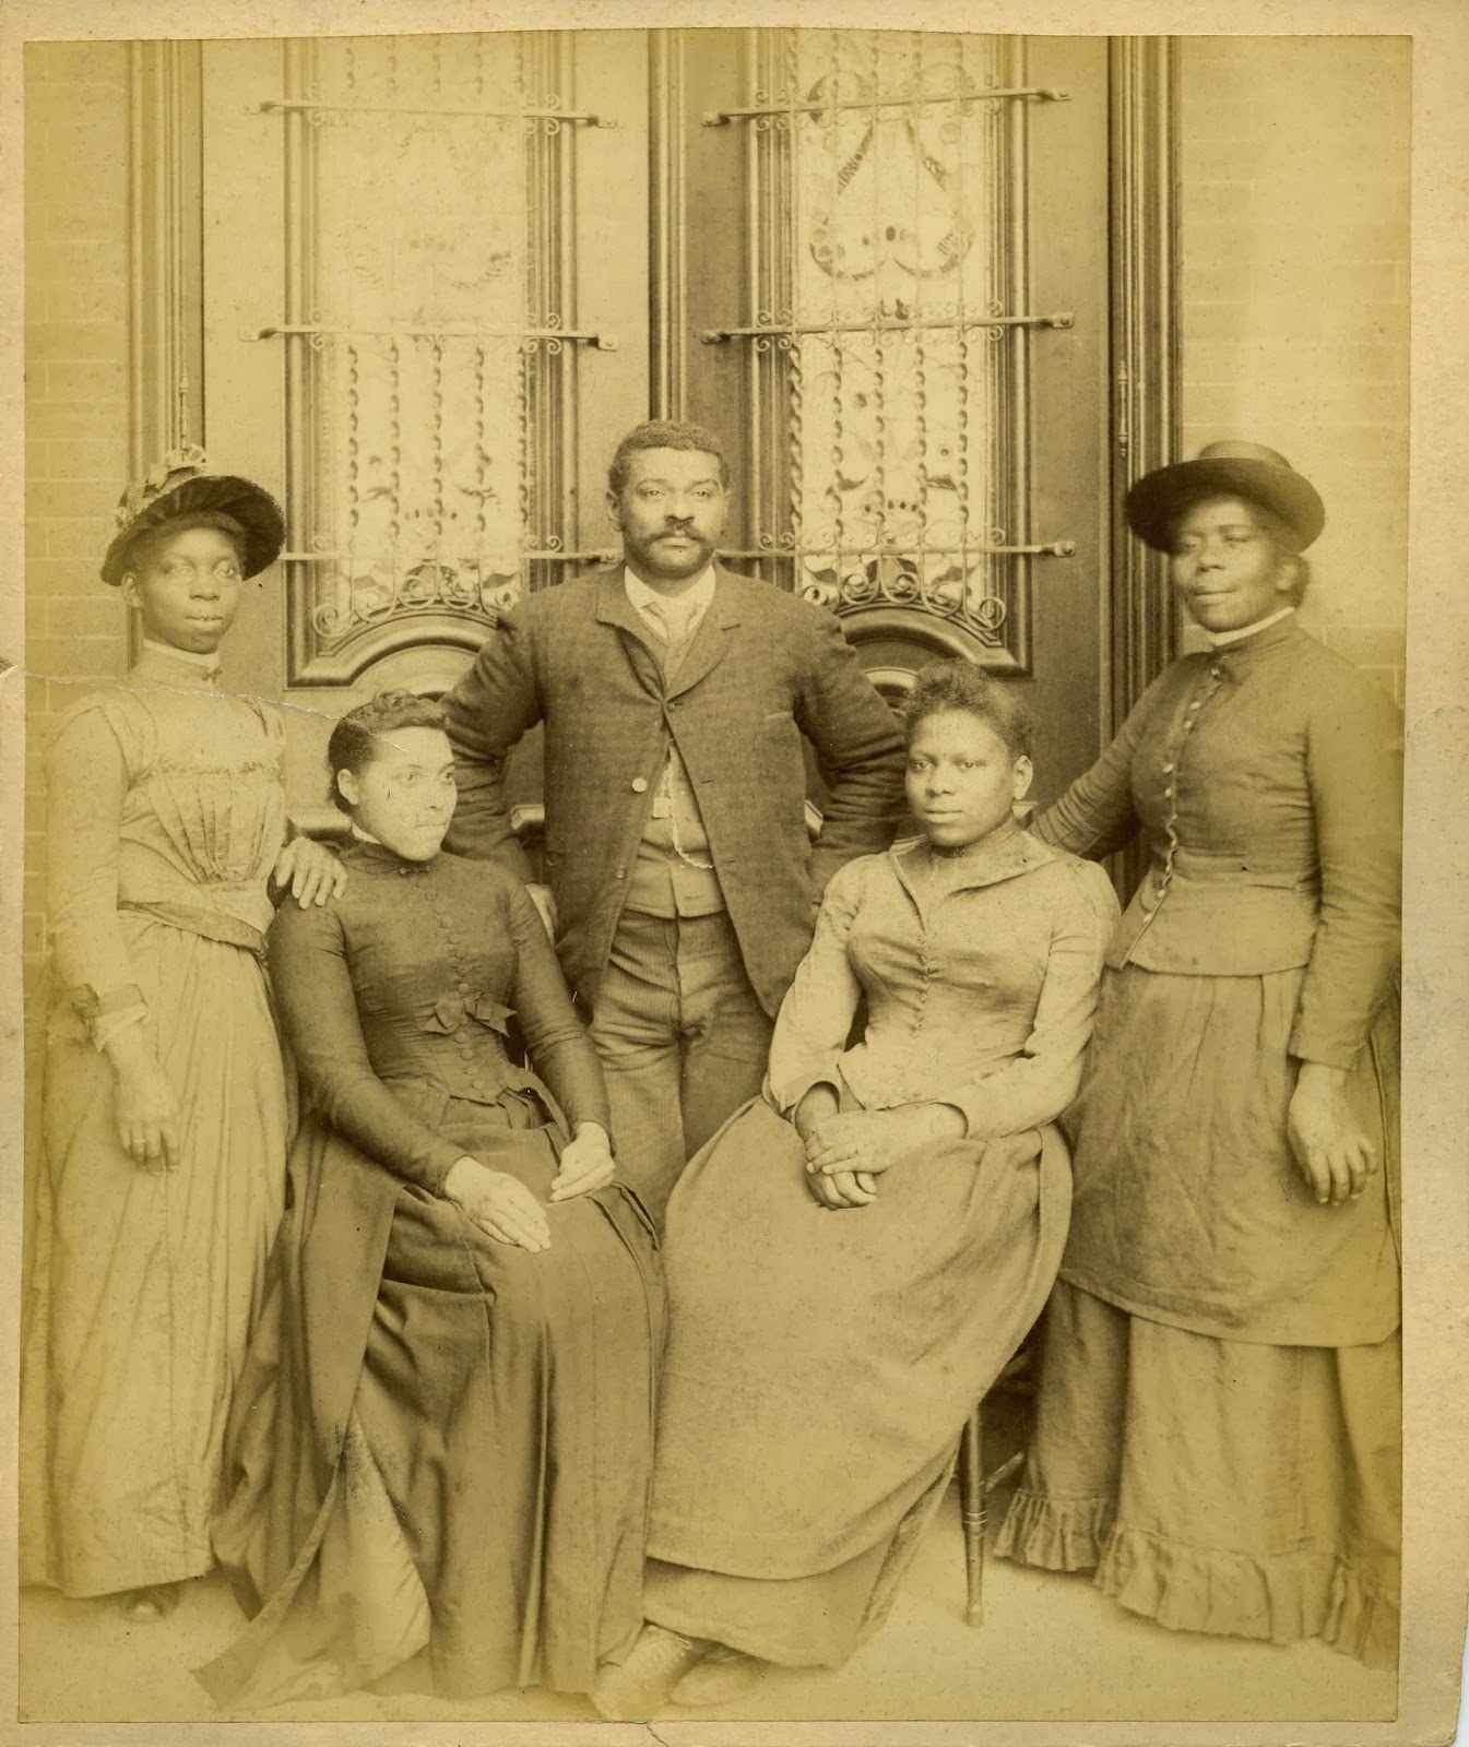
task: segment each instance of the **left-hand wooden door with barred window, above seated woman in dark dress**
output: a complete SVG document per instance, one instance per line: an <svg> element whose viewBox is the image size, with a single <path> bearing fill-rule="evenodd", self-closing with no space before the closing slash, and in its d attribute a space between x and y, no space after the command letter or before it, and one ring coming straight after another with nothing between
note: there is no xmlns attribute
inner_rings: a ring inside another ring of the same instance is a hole
<svg viewBox="0 0 1469 1747"><path fill-rule="evenodd" d="M290 706L297 811L342 709L442 690L610 543L596 482L648 404L646 79L620 31L204 45L204 440L290 529L232 673Z"/></svg>

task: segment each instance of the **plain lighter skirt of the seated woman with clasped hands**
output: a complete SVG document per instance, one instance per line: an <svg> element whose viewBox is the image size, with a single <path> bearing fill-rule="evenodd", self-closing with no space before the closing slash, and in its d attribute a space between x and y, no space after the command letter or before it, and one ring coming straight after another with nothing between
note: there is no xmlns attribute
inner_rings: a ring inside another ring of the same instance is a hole
<svg viewBox="0 0 1469 1747"><path fill-rule="evenodd" d="M756 1101L669 1204L650 1619L786 1663L875 1630L1060 1261L1053 1129L898 1160L828 1212Z"/></svg>

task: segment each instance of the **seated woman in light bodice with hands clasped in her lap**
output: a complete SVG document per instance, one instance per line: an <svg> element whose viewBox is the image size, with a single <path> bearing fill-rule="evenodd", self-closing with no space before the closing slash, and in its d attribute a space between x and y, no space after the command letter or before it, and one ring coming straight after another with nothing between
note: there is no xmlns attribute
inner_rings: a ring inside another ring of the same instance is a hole
<svg viewBox="0 0 1469 1747"><path fill-rule="evenodd" d="M1015 821L1013 692L941 662L907 727L924 835L831 880L767 1094L669 1205L648 1625L597 1682L610 1717L837 1665L880 1625L1060 1261L1055 1122L1118 905Z"/></svg>

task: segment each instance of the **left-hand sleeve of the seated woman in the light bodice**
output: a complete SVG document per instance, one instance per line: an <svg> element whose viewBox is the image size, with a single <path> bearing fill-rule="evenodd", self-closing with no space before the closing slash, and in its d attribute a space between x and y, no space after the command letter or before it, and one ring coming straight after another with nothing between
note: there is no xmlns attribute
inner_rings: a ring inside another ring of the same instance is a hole
<svg viewBox="0 0 1469 1747"><path fill-rule="evenodd" d="M783 1115L790 1115L812 1087L830 1085L840 1092L838 1062L861 999L847 936L873 860L849 861L833 875L821 900L816 936L781 1003L770 1039L769 1087Z"/></svg>

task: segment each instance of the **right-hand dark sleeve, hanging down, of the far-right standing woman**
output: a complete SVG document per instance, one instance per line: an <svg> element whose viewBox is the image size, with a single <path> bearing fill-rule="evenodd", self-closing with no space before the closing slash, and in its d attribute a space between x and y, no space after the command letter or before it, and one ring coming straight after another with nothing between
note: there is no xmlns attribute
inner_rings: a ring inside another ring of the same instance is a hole
<svg viewBox="0 0 1469 1747"><path fill-rule="evenodd" d="M1333 681L1307 725L1321 917L1291 1053L1350 1067L1401 950L1403 718L1361 674L1343 669Z"/></svg>

